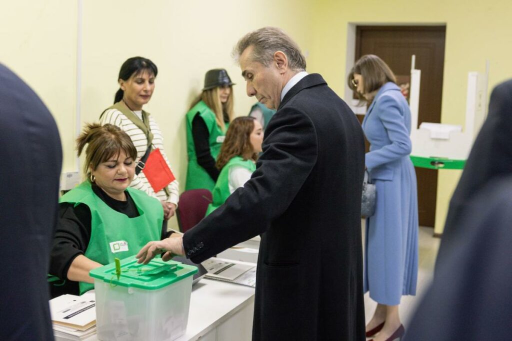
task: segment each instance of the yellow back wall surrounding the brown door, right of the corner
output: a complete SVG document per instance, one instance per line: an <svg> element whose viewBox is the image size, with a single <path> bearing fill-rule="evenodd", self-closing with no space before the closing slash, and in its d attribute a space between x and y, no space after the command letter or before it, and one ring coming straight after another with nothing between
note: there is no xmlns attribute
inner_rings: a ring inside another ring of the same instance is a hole
<svg viewBox="0 0 512 341"><path fill-rule="evenodd" d="M467 73L485 71L490 90L512 76L512 2L509 0L432 0L315 2L309 71L324 75L342 96L346 83L347 27L358 24L445 24L446 46L441 123L464 122ZM435 232L441 233L460 171L439 171Z"/></svg>

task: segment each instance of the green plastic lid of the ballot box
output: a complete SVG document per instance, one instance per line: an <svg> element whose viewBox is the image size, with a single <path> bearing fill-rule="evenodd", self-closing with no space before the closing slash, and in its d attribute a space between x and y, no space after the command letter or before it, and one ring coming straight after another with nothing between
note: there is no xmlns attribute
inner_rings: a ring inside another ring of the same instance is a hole
<svg viewBox="0 0 512 341"><path fill-rule="evenodd" d="M139 264L135 256L131 256L120 260L117 270L114 262L92 269L89 275L113 286L156 290L193 276L197 271L194 265L172 260L164 262L160 258L155 258L145 265Z"/></svg>

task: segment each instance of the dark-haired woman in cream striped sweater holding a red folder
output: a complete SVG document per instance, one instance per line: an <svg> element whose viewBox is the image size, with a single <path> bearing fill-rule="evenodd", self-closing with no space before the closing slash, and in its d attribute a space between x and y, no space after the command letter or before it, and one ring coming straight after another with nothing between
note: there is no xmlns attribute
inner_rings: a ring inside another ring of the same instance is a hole
<svg viewBox="0 0 512 341"><path fill-rule="evenodd" d="M115 95L114 105L103 111L100 122L110 123L124 130L137 149L138 160L146 153L150 141L153 149L160 149L170 169L163 150L162 132L153 116L142 110L142 106L151 100L157 74L157 66L151 60L142 57L127 59L119 71L119 90ZM175 214L179 198L178 180L174 179L166 187L155 192L144 171L140 171L136 173L131 187L160 200L164 210L164 222Z"/></svg>

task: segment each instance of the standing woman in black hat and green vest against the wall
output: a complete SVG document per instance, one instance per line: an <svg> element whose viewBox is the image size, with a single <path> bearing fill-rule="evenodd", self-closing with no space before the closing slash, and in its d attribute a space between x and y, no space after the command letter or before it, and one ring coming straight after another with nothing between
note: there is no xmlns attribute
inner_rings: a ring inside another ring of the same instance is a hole
<svg viewBox="0 0 512 341"><path fill-rule="evenodd" d="M210 70L202 93L186 114L188 169L185 190L212 190L219 177L217 155L233 118L231 79L224 69Z"/></svg>

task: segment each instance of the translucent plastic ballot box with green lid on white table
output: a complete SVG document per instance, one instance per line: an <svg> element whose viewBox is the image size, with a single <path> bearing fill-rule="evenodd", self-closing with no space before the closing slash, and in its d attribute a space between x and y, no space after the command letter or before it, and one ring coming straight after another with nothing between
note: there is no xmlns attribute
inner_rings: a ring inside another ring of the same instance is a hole
<svg viewBox="0 0 512 341"><path fill-rule="evenodd" d="M173 340L185 333L193 265L135 256L90 271L100 340Z"/></svg>

